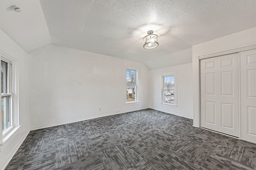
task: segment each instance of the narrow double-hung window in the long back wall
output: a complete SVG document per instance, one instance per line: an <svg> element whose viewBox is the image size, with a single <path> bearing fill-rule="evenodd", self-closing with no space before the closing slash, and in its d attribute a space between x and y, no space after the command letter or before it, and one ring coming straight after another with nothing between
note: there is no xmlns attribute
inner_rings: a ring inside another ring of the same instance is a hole
<svg viewBox="0 0 256 170"><path fill-rule="evenodd" d="M126 103L137 102L136 70L126 69Z"/></svg>

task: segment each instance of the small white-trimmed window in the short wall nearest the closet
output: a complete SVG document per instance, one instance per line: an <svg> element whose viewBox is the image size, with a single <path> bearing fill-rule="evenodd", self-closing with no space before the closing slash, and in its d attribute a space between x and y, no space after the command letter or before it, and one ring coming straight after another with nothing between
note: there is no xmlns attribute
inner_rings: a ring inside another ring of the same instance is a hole
<svg viewBox="0 0 256 170"><path fill-rule="evenodd" d="M174 73L162 76L162 103L174 106L177 105L176 84L176 76Z"/></svg>

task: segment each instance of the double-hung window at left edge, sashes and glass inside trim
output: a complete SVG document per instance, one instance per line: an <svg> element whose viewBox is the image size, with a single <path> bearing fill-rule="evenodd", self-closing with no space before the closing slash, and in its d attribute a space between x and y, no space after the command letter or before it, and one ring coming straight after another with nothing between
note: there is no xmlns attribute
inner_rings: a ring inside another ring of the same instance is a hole
<svg viewBox="0 0 256 170"><path fill-rule="evenodd" d="M12 127L12 64L1 59L2 132Z"/></svg>

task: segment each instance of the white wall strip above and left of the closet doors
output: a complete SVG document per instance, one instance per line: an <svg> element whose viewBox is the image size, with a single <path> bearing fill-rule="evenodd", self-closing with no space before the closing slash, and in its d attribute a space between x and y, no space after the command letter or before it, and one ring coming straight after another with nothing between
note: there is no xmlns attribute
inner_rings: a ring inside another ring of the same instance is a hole
<svg viewBox="0 0 256 170"><path fill-rule="evenodd" d="M212 41L194 45L193 53L193 121L194 126L200 127L199 122L199 60L198 57L256 45L256 27L238 33L220 37Z"/></svg>

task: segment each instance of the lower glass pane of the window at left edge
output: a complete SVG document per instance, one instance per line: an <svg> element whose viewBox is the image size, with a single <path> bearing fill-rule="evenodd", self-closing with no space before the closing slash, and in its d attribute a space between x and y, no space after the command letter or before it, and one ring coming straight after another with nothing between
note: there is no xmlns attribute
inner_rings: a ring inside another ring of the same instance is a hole
<svg viewBox="0 0 256 170"><path fill-rule="evenodd" d="M10 96L2 97L2 131L11 126Z"/></svg>

